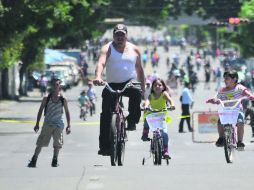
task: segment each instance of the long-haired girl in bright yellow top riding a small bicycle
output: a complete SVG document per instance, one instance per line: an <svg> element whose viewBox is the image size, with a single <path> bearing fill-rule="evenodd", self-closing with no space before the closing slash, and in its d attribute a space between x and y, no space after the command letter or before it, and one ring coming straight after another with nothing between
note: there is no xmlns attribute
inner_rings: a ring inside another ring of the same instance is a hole
<svg viewBox="0 0 254 190"><path fill-rule="evenodd" d="M167 102L170 103L171 108L175 109L174 102L170 98L170 96L167 92L167 86L166 86L165 82L162 79L157 78L152 83L151 94L149 95L149 98L146 100L144 108L147 109L150 106L152 109L164 110L164 109L167 109ZM149 111L145 112L144 119L146 118L146 116L148 114L149 114ZM167 111L166 111L166 121L167 121L167 123L171 122L171 119L170 119ZM141 139L143 141L148 140L148 133L149 133L149 126L148 126L148 123L145 119L143 134L141 137ZM163 138L163 144L164 144L164 147L163 147L164 148L164 155L163 156L166 159L171 159L171 157L169 156L169 151L168 151L168 139L169 138L168 138L167 128L163 129L162 138Z"/></svg>

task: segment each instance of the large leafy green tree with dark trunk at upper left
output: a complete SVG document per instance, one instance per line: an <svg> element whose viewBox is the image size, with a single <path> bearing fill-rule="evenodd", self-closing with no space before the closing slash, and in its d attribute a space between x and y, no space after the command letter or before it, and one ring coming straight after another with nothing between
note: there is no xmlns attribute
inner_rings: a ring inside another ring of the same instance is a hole
<svg viewBox="0 0 254 190"><path fill-rule="evenodd" d="M103 4L107 1L0 1L1 68L22 60L21 94L26 94L23 75L29 66L43 61L44 48L78 47L96 29L90 19L100 17L95 5Z"/></svg>

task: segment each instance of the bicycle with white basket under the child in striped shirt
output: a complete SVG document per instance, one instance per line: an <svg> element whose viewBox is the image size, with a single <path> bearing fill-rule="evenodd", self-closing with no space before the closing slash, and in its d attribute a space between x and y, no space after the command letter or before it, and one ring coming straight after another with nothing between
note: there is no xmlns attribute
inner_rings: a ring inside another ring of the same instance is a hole
<svg viewBox="0 0 254 190"><path fill-rule="evenodd" d="M224 152L227 163L233 163L234 152L237 148L237 119L240 108L237 108L242 99L220 100L218 110L220 122L224 128Z"/></svg>

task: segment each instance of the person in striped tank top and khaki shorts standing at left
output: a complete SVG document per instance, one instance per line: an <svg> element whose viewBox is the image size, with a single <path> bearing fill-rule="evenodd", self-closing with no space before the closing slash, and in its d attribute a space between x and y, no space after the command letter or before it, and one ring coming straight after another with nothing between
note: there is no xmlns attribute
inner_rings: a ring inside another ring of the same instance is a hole
<svg viewBox="0 0 254 190"><path fill-rule="evenodd" d="M63 107L67 119L66 133L70 134L70 113L67 105L66 99L61 95L61 81L59 79L52 80L52 93L47 97L44 97L37 114L37 121L34 127L34 131L37 133L39 131L39 122L41 119L42 111L44 109L45 119L43 122L41 133L36 142L36 148L32 160L28 164L28 167L36 167L36 162L38 155L41 152L42 147L47 147L49 145L51 137L53 137L53 147L54 155L52 159L51 166L58 166L58 154L59 150L63 145Z"/></svg>

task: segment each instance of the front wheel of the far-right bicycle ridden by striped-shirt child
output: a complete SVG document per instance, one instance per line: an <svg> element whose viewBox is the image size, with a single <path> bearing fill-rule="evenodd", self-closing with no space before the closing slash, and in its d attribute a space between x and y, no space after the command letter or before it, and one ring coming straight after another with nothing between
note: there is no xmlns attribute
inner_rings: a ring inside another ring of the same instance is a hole
<svg viewBox="0 0 254 190"><path fill-rule="evenodd" d="M231 127L230 127L231 128ZM225 127L225 137L224 137L224 152L227 163L233 163L234 157L234 147L232 146L232 133L230 128L227 130Z"/></svg>

